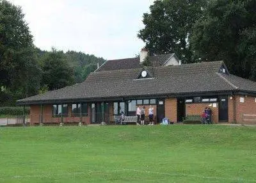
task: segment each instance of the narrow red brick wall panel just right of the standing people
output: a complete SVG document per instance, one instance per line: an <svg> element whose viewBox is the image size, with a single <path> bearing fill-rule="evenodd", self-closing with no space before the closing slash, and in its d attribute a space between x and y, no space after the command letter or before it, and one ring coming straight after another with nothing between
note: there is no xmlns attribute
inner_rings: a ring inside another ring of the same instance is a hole
<svg viewBox="0 0 256 183"><path fill-rule="evenodd" d="M177 99L165 99L165 117L172 122L177 122Z"/></svg>

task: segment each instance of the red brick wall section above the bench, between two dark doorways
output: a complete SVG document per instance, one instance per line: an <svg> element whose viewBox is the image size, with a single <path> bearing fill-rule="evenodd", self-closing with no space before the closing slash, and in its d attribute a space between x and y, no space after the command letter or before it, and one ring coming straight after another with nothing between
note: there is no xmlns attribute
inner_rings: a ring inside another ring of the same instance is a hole
<svg viewBox="0 0 256 183"><path fill-rule="evenodd" d="M212 121L219 122L219 106L215 103L216 107L212 107L212 103L193 103L186 104L186 115L201 115L205 107L210 107L212 110ZM211 105L211 106L210 106Z"/></svg>

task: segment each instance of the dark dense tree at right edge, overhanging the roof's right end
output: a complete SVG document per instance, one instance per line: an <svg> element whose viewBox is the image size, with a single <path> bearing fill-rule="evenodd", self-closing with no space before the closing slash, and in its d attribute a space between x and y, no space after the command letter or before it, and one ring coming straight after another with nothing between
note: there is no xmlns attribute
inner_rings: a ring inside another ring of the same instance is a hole
<svg viewBox="0 0 256 183"><path fill-rule="evenodd" d="M256 1L209 3L191 36L198 61L224 60L230 72L256 80Z"/></svg>

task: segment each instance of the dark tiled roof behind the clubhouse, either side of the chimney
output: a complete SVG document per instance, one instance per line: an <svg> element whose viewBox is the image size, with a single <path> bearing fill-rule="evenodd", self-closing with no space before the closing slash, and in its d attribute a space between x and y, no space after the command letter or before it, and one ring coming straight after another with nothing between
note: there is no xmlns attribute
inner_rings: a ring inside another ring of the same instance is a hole
<svg viewBox="0 0 256 183"><path fill-rule="evenodd" d="M163 65L168 58L173 54L161 54L157 56L148 56L148 60L152 63L154 67ZM108 60L102 64L96 71L106 71L106 70L124 70L132 68L140 68L140 58L125 58L119 60Z"/></svg>

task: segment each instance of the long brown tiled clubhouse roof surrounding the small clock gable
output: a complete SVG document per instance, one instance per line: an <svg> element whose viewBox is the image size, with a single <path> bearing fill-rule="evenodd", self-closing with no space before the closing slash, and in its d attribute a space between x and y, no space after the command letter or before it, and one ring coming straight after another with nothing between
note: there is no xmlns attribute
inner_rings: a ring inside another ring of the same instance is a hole
<svg viewBox="0 0 256 183"><path fill-rule="evenodd" d="M60 90L18 100L18 103L43 100L99 99L147 95L180 95L231 91L256 92L256 83L230 74L220 74L223 61L143 67L128 70L92 72L86 81ZM152 78L137 79L142 70Z"/></svg>

